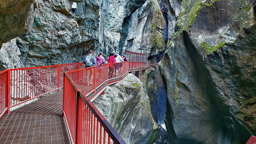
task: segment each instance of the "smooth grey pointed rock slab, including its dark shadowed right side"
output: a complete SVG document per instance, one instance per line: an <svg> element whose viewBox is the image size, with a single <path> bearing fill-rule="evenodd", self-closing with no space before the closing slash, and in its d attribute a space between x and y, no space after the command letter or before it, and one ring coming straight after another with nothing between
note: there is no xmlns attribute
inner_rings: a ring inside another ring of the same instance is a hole
<svg viewBox="0 0 256 144"><path fill-rule="evenodd" d="M224 107L209 70L184 31L160 63L169 143L246 143L253 134Z"/></svg>

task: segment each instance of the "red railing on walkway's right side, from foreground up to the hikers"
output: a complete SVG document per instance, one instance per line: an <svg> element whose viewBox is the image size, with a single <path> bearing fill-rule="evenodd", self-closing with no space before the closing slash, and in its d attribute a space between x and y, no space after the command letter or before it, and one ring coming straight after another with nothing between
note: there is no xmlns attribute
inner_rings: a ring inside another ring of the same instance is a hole
<svg viewBox="0 0 256 144"><path fill-rule="evenodd" d="M63 116L73 143L126 144L88 97L124 78L128 66L128 61L107 63L64 73Z"/></svg>

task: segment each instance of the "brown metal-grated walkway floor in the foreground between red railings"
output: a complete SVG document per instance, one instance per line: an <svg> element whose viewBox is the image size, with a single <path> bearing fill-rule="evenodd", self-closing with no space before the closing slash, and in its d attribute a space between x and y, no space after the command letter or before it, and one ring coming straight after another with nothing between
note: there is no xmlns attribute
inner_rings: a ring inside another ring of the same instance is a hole
<svg viewBox="0 0 256 144"><path fill-rule="evenodd" d="M5 114L0 119L0 144L70 144L62 118L63 91Z"/></svg>

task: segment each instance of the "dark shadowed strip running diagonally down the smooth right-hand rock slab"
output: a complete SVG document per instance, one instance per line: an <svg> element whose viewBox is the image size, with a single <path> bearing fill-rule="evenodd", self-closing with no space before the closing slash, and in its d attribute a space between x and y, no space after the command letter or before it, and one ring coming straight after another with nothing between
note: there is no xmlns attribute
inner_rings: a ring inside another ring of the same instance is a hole
<svg viewBox="0 0 256 144"><path fill-rule="evenodd" d="M226 138L228 138L228 142L239 141L241 144L245 144L252 135L252 132L241 124L241 121L236 119L230 111L221 104L221 101L217 97L215 85L209 70L204 66L203 59L192 44L188 33L185 31L183 31L183 40L193 66L195 66L196 81L198 81L198 85L202 88L205 98L211 105L209 115L212 117L212 120L215 120L215 122L212 123L215 124L214 131L223 133L219 142L223 144L227 143Z"/></svg>

